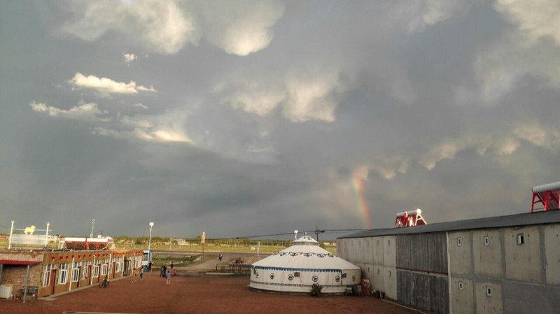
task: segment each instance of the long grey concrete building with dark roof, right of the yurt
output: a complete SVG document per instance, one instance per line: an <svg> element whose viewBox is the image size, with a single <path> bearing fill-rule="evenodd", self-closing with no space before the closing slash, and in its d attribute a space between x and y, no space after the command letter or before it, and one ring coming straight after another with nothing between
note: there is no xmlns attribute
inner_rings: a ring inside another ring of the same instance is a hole
<svg viewBox="0 0 560 314"><path fill-rule="evenodd" d="M560 313L560 210L360 231L337 255L426 313Z"/></svg>

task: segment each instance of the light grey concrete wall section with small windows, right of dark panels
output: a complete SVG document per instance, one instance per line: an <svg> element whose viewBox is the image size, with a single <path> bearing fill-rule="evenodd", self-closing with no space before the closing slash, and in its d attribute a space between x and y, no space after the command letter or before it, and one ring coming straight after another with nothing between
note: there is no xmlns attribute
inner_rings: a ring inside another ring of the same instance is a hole
<svg viewBox="0 0 560 314"><path fill-rule="evenodd" d="M449 255L452 313L560 313L560 224L450 232Z"/></svg>

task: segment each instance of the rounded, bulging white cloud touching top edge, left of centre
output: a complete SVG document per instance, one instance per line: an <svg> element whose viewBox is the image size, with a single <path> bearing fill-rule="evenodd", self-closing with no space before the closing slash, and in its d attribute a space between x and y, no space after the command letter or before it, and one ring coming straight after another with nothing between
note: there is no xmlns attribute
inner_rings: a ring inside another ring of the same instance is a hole
<svg viewBox="0 0 560 314"><path fill-rule="evenodd" d="M204 38L230 55L246 56L267 48L271 28L283 15L279 1L203 1Z"/></svg>

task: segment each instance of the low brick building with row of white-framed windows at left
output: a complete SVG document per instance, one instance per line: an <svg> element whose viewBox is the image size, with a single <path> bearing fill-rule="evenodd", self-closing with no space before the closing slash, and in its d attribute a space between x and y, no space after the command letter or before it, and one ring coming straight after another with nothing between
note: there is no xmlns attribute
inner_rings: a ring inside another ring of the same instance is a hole
<svg viewBox="0 0 560 314"><path fill-rule="evenodd" d="M0 251L0 297L22 297L38 287L36 297L68 292L132 275L141 265L142 250L3 250Z"/></svg>

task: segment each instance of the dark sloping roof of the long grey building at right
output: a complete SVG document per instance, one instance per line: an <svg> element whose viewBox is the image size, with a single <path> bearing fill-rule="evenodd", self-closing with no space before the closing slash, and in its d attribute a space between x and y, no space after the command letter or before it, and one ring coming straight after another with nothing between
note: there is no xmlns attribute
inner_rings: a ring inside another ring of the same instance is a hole
<svg viewBox="0 0 560 314"><path fill-rule="evenodd" d="M521 227L533 224L560 223L560 210L547 210L536 213L485 217L453 222L437 222L416 227L372 229L340 236L339 238L365 238L367 236L393 236L398 234L427 234L430 232L459 231L469 229L487 229L500 227Z"/></svg>

